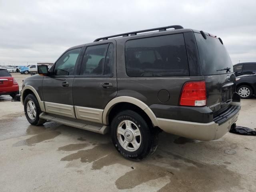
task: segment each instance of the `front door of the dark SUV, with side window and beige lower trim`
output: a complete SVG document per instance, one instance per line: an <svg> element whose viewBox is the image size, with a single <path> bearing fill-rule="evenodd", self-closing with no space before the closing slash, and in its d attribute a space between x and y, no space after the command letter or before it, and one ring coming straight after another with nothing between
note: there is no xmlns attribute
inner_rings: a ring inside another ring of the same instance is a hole
<svg viewBox="0 0 256 192"><path fill-rule="evenodd" d="M68 50L55 63L50 76L42 84L46 112L75 118L72 96L74 68L81 48Z"/></svg>

